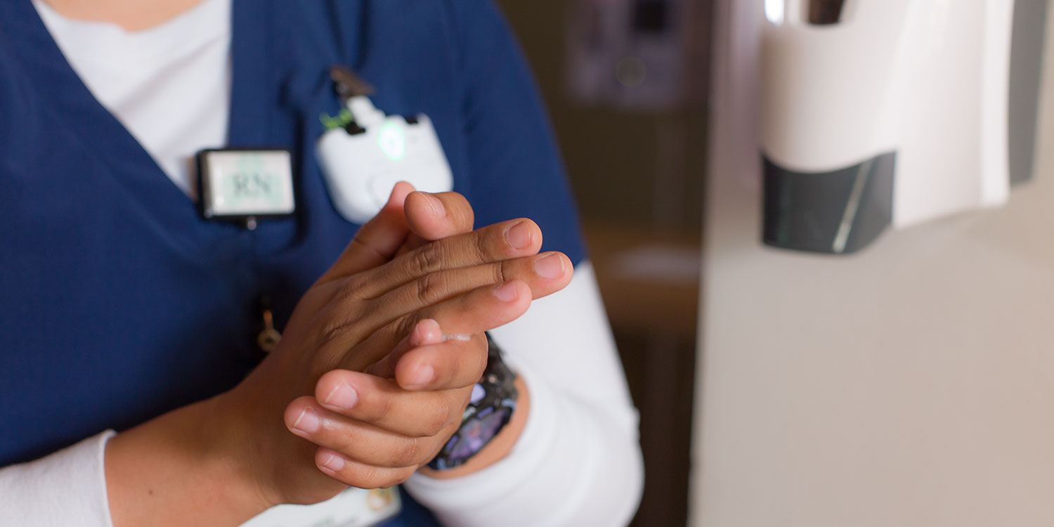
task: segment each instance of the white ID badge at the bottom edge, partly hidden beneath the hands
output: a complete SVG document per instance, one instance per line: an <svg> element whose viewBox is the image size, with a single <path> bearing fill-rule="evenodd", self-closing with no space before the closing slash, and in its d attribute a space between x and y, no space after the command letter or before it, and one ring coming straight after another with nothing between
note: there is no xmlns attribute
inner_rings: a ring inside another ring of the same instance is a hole
<svg viewBox="0 0 1054 527"><path fill-rule="evenodd" d="M398 490L348 488L314 505L279 505L241 527L370 527L403 510Z"/></svg>

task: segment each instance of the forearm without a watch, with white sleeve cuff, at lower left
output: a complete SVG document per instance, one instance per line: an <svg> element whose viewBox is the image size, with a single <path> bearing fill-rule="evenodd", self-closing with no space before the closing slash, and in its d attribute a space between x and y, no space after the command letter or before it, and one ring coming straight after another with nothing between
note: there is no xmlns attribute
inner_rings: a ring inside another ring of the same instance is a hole
<svg viewBox="0 0 1054 527"><path fill-rule="evenodd" d="M0 523L240 524L267 505L229 453L235 436L226 427L204 425L217 411L210 399L0 469Z"/></svg>

